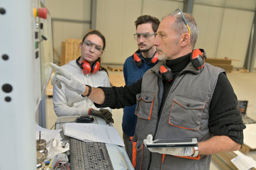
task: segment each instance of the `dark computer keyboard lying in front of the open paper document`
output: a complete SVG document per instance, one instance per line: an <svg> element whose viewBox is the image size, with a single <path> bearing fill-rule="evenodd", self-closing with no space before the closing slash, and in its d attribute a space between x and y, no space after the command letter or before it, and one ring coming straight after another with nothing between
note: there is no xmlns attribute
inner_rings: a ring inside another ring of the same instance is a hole
<svg viewBox="0 0 256 170"><path fill-rule="evenodd" d="M70 137L70 169L113 169L106 145Z"/></svg>

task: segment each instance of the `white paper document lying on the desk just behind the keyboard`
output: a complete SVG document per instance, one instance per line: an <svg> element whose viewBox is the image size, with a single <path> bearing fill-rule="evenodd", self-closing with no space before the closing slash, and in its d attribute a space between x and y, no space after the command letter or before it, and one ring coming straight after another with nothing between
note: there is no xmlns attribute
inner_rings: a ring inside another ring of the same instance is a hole
<svg viewBox="0 0 256 170"><path fill-rule="evenodd" d="M65 123L63 125L64 135L83 140L85 142L104 142L124 146L116 128L94 123Z"/></svg>

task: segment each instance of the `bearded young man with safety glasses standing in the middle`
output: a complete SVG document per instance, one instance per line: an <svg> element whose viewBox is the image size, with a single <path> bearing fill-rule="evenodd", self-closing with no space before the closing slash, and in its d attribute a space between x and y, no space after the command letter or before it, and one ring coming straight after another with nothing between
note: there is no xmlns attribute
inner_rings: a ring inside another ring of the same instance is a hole
<svg viewBox="0 0 256 170"><path fill-rule="evenodd" d="M137 41L138 50L126 59L123 64L123 77L126 85L131 85L141 79L143 74L157 64L157 51L153 44L160 20L153 16L139 16L135 21L136 33L133 35ZM128 156L132 157L133 146L130 137L133 137L137 123L135 106L123 108L123 142Z"/></svg>

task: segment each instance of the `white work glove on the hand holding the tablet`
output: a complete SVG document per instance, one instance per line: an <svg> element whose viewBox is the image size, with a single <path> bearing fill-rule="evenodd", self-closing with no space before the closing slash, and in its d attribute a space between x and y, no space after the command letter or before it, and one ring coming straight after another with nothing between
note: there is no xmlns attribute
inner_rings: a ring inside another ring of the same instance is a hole
<svg viewBox="0 0 256 170"><path fill-rule="evenodd" d="M143 140L145 146L152 144L152 135L148 135L147 139ZM158 152L160 154L171 154L179 157L191 156L193 149L191 147L148 147L150 152Z"/></svg>

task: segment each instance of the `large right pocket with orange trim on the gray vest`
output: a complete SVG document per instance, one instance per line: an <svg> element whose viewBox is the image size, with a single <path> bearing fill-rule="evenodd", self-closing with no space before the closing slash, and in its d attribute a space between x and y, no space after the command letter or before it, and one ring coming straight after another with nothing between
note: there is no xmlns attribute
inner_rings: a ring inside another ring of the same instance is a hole
<svg viewBox="0 0 256 170"><path fill-rule="evenodd" d="M169 115L169 124L178 128L199 130L206 101L187 96L175 96Z"/></svg>

